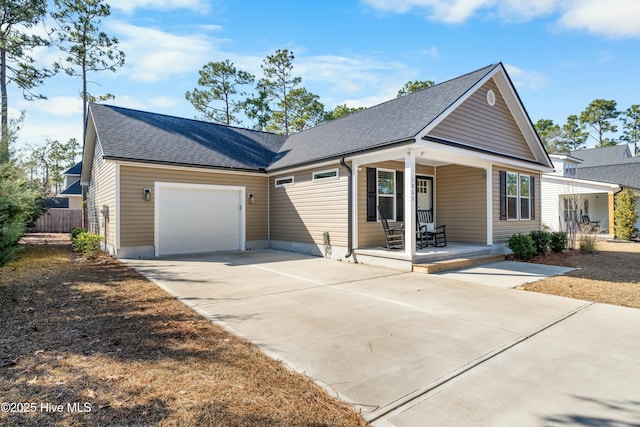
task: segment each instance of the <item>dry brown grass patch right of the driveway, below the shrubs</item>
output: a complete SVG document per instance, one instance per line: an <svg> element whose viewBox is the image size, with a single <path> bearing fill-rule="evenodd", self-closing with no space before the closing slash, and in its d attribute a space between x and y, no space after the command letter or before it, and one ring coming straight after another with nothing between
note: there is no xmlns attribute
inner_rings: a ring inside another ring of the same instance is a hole
<svg viewBox="0 0 640 427"><path fill-rule="evenodd" d="M594 252L550 253L531 262L577 270L527 284L528 291L640 308L640 243L599 241Z"/></svg>

